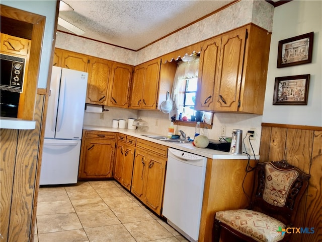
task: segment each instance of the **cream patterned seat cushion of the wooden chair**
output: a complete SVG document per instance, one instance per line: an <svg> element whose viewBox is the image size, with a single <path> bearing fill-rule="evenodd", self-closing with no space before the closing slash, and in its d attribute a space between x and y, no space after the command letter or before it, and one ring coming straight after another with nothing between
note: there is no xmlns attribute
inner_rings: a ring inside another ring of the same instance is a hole
<svg viewBox="0 0 322 242"><path fill-rule="evenodd" d="M216 219L259 242L275 242L284 237L276 230L285 228L285 224L264 213L247 209L227 210L217 212Z"/></svg>

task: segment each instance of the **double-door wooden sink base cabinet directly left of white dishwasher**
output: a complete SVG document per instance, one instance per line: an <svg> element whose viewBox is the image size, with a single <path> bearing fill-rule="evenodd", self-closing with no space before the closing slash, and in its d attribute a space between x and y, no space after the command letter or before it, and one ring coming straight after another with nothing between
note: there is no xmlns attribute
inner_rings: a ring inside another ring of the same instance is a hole
<svg viewBox="0 0 322 242"><path fill-rule="evenodd" d="M138 140L134 158L131 192L158 215L163 202L167 151L167 146Z"/></svg>

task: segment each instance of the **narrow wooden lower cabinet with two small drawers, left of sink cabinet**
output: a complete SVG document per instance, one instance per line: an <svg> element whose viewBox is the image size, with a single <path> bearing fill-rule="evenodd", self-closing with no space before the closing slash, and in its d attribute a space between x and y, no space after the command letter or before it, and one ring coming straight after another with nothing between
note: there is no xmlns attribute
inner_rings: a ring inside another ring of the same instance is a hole
<svg viewBox="0 0 322 242"><path fill-rule="evenodd" d="M135 138L119 134L115 152L114 178L129 191L132 184L135 142Z"/></svg>

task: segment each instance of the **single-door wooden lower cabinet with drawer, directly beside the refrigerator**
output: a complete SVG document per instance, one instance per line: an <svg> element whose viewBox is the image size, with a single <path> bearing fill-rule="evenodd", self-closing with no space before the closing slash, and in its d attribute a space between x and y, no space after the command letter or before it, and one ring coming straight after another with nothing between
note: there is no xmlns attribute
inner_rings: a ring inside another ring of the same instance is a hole
<svg viewBox="0 0 322 242"><path fill-rule="evenodd" d="M112 177L117 133L83 132L78 178Z"/></svg>

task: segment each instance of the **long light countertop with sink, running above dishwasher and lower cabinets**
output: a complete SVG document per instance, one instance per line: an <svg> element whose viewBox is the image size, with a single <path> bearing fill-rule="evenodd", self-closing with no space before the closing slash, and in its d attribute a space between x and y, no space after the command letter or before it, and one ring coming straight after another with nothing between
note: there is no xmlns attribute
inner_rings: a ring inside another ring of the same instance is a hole
<svg viewBox="0 0 322 242"><path fill-rule="evenodd" d="M223 152L219 150L212 150L208 148L197 148L193 146L191 143L169 143L167 141L152 139L143 135L160 135L151 132L137 132L136 130L128 130L128 129L117 129L110 127L100 127L100 126L84 126L84 130L93 130L93 131L106 131L106 132L117 132L125 135L130 135L142 140L151 141L160 145L165 145L174 149L190 152L196 155L201 155L211 159L240 159L240 160L248 160L248 156L246 154L234 155L228 152ZM254 159L254 155L251 154L251 158ZM259 159L259 155L256 155L256 159Z"/></svg>

